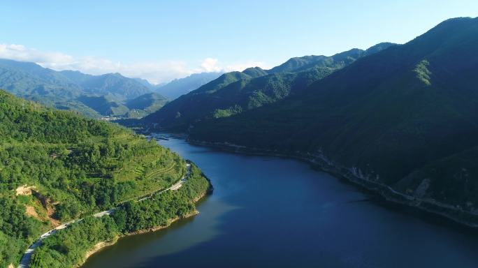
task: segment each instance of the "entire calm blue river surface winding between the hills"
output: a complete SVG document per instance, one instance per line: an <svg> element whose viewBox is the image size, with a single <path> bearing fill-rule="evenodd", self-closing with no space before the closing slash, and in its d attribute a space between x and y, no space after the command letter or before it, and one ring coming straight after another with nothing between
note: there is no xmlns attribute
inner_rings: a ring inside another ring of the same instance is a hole
<svg viewBox="0 0 478 268"><path fill-rule="evenodd" d="M159 142L215 191L194 218L119 239L84 268L478 267L478 234L397 208L298 161Z"/></svg>

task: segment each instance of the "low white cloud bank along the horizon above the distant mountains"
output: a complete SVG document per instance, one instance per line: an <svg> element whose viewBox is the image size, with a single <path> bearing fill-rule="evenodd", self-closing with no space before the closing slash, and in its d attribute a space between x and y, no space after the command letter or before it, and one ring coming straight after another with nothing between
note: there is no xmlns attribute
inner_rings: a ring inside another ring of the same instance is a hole
<svg viewBox="0 0 478 268"><path fill-rule="evenodd" d="M266 67L266 64L260 61L224 65L213 58L204 59L197 67L190 67L185 61L142 61L126 64L96 57L73 57L61 52L44 52L15 44L0 44L0 58L31 61L53 70L79 70L92 75L121 73L127 77L144 78L154 84L186 77L192 73L229 72L254 66Z"/></svg>

